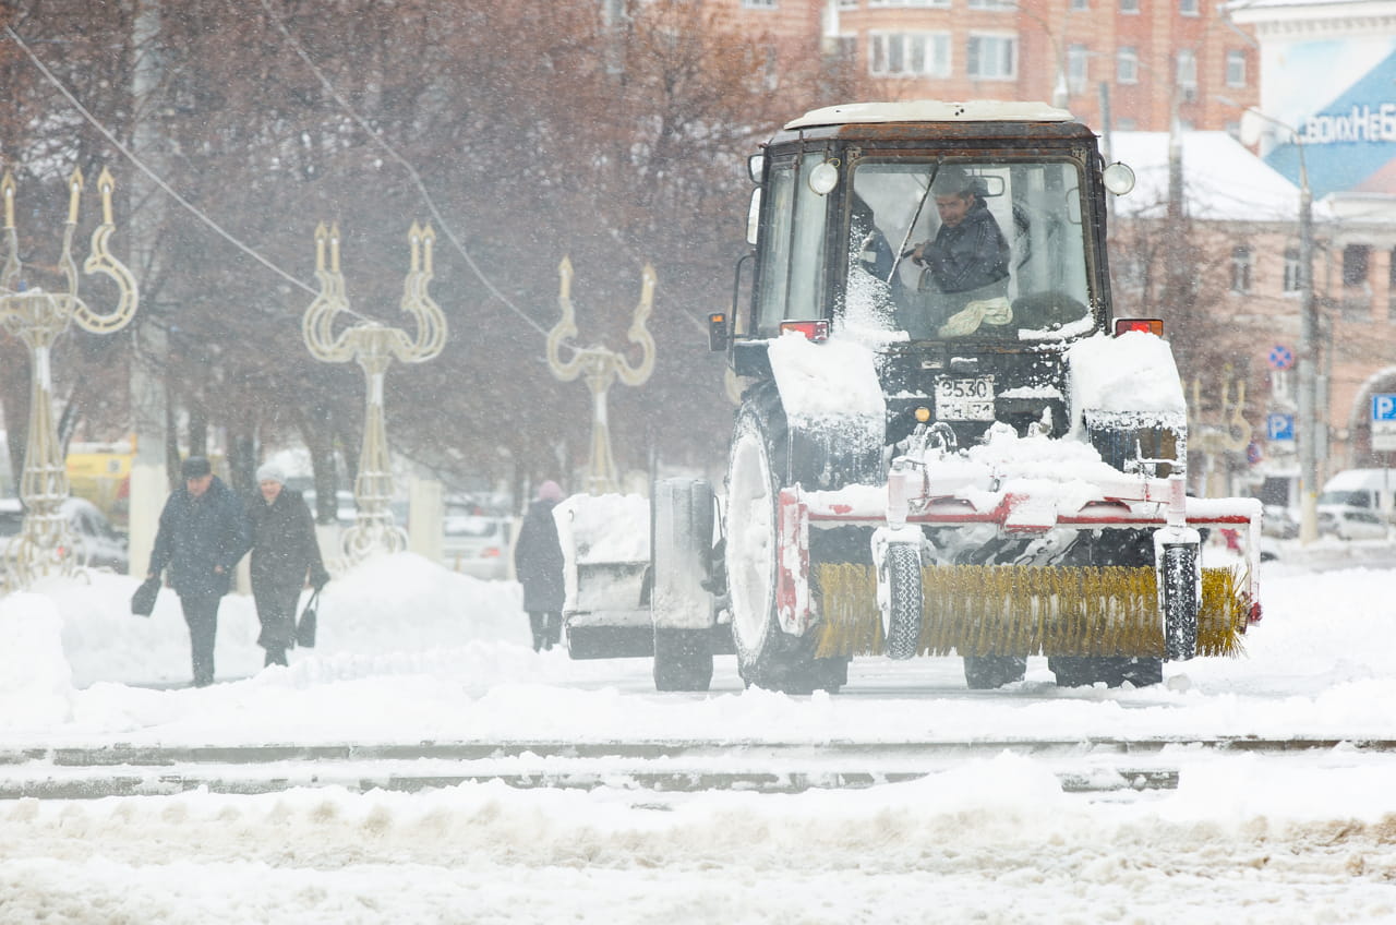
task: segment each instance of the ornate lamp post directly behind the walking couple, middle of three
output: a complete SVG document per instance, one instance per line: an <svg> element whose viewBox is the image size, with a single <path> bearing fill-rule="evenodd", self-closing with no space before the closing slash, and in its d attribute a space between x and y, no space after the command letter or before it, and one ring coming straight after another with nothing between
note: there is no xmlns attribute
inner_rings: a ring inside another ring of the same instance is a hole
<svg viewBox="0 0 1396 925"><path fill-rule="evenodd" d="M315 228L315 278L320 295L306 309L302 335L310 354L322 362L357 360L367 384L363 422L363 446L359 451L359 475L353 483L357 516L345 531L343 551L350 562L362 562L376 552L401 552L408 537L392 523L392 467L388 460L388 428L383 409L383 380L392 359L423 363L445 345L445 316L427 295L431 282L431 245L436 232L416 222L408 232L412 264L402 288L399 306L417 326L416 340L395 327L360 320L339 331L334 328L341 313L349 313L343 274L339 272L339 228ZM328 264L327 264L328 256Z"/></svg>

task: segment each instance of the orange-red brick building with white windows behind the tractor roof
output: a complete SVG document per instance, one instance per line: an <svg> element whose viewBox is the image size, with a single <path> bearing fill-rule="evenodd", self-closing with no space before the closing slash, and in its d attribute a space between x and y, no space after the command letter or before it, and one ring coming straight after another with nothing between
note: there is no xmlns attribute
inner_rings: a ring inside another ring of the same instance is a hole
<svg viewBox="0 0 1396 925"><path fill-rule="evenodd" d="M850 61L885 99L1041 99L1092 126L1227 129L1256 42L1203 0L722 0L743 29ZM1224 99L1223 99L1224 98Z"/></svg>

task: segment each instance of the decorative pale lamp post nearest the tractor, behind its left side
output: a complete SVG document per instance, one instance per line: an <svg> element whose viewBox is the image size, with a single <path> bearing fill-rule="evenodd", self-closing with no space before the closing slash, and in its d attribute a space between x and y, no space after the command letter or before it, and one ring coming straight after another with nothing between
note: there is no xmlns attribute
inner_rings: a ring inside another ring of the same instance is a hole
<svg viewBox="0 0 1396 925"><path fill-rule="evenodd" d="M563 342L577 335L577 320L572 312L572 261L563 257L558 265L563 278L557 302L563 317L547 334L547 365L563 381L585 376L592 393L592 458L586 468L586 490L591 495L604 495L620 490L616 460L611 456L610 430L606 423L606 393L617 377L627 386L642 386L655 370L655 338L645 327L655 300L655 268L645 264L641 272L639 305L625 335L631 344L639 344L639 363L631 366L624 354L604 347L572 348L577 352L565 363L561 359Z"/></svg>

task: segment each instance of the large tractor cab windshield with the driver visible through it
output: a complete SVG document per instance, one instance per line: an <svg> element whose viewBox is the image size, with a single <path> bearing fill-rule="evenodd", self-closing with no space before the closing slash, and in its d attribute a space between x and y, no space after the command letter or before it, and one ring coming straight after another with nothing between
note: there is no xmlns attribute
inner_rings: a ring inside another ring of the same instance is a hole
<svg viewBox="0 0 1396 925"><path fill-rule="evenodd" d="M1087 333L1083 207L1067 161L866 158L847 197L845 324L910 340Z"/></svg>

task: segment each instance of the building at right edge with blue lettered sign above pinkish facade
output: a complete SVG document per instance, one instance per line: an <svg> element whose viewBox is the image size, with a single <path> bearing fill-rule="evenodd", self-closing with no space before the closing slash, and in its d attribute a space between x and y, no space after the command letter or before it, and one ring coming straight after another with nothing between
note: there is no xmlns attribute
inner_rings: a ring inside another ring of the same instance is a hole
<svg viewBox="0 0 1396 925"><path fill-rule="evenodd" d="M1396 394L1396 4L1251 0L1258 151L1332 211L1318 252L1328 471L1396 465L1372 449L1372 395Z"/></svg>

